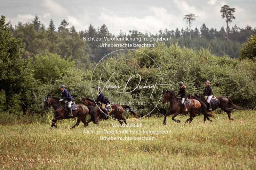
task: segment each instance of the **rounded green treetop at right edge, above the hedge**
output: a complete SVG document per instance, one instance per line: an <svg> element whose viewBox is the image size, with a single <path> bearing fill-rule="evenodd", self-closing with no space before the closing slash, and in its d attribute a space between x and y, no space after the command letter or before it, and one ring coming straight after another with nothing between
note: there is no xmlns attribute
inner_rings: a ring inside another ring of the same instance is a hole
<svg viewBox="0 0 256 170"><path fill-rule="evenodd" d="M256 34L252 35L241 47L240 58L249 58L256 61Z"/></svg>

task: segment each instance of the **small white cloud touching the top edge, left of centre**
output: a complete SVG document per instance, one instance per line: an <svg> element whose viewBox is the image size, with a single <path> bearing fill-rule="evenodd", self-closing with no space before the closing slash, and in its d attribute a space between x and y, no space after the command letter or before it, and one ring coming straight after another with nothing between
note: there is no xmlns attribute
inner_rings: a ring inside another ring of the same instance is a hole
<svg viewBox="0 0 256 170"><path fill-rule="evenodd" d="M66 10L65 7L54 2L53 0L43 0L42 6L46 8L47 11L54 15L64 15L68 13L68 10Z"/></svg>

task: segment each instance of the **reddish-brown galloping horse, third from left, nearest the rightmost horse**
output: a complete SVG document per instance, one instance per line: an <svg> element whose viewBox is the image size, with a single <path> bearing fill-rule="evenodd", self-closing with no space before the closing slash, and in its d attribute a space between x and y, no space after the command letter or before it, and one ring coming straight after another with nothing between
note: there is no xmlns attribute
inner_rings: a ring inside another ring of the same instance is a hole
<svg viewBox="0 0 256 170"><path fill-rule="evenodd" d="M173 115L172 116L172 120L180 123L180 120L176 120L174 119L177 115L183 113L185 113L185 109L183 108L183 106L180 106L179 104L179 98L177 98L175 96L175 92L172 90L166 90L165 94L164 94L164 99L163 99L163 103L166 103L166 101L170 102L170 112L166 115L164 115L164 122L163 124L166 125L166 117L169 115ZM190 104L188 104L187 106L188 109L188 113L189 113L189 118L186 120L185 123L187 123L189 121L189 124L192 122L193 118L196 117L196 111L198 111L201 107L201 104L198 100L195 99L190 99ZM214 115L209 114L209 113L204 113L209 117L214 117Z"/></svg>

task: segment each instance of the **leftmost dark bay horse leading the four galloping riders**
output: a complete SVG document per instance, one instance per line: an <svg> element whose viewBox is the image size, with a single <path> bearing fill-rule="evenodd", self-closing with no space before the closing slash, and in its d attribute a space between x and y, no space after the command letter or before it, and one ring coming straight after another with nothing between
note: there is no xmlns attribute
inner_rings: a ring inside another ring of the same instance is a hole
<svg viewBox="0 0 256 170"><path fill-rule="evenodd" d="M83 104L77 104L77 110L74 110L73 116L68 116L68 112L65 110L65 102L60 102L58 98L56 97L46 97L44 100L44 109L47 110L50 107L53 107L55 110L54 118L52 119L52 127L57 128L57 125L55 124L58 120L62 119L70 119L70 118L77 118L76 124L71 128L75 128L76 126L79 125L80 121L84 123L84 126L86 127L88 123L85 121L86 116L89 113L89 108L84 106Z"/></svg>

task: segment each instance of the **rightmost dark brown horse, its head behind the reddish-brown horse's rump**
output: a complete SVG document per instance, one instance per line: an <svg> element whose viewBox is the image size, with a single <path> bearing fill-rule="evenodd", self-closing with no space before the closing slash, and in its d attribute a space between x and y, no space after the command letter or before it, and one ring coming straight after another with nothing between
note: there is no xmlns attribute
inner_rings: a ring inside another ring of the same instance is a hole
<svg viewBox="0 0 256 170"><path fill-rule="evenodd" d="M207 110L207 106L206 106L207 101L203 97L200 97L199 95L195 94L195 95L188 95L188 98L196 99L200 102L203 102L205 104L204 107L206 107L206 110ZM216 110L217 108L221 108L224 112L228 114L229 120L234 120L231 117L232 108L235 108L236 110L243 109L242 107L236 106L229 97L218 96L216 97L216 100L217 100L217 103L215 105L212 105L212 111Z"/></svg>

